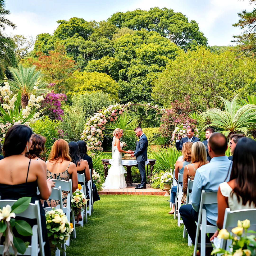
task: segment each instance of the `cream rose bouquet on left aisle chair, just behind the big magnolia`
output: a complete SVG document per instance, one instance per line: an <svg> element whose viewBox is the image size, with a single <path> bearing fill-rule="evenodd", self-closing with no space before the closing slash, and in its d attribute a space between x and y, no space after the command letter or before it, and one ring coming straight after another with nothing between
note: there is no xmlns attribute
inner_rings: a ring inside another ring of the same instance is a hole
<svg viewBox="0 0 256 256"><path fill-rule="evenodd" d="M56 244L56 247L61 249L63 240L68 240L74 229L73 224L68 221L67 216L61 209L53 208L46 211L45 217L48 238L52 244Z"/></svg>

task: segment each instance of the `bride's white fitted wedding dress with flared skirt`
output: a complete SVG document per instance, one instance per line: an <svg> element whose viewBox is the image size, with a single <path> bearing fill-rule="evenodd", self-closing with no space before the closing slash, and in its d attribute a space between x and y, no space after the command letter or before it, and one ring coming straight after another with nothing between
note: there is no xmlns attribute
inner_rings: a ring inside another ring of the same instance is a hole
<svg viewBox="0 0 256 256"><path fill-rule="evenodd" d="M120 147L121 149L123 147L123 143L121 142ZM122 152L118 151L117 146L114 146L114 153L112 154L112 159L109 162L111 163L111 167L109 168L109 173L105 182L102 184L104 189L127 188L124 178L126 170L122 166Z"/></svg>

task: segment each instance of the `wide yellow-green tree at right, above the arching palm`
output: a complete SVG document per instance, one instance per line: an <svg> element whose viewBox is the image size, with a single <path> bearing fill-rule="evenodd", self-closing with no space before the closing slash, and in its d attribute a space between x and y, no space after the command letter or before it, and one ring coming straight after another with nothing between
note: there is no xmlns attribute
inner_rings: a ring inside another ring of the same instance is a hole
<svg viewBox="0 0 256 256"><path fill-rule="evenodd" d="M254 58L238 58L230 51L215 54L199 47L195 51L180 52L170 61L154 80L152 96L168 107L171 102L189 95L192 108L204 111L219 106L216 95L231 100L237 93L242 97L254 93L255 72Z"/></svg>

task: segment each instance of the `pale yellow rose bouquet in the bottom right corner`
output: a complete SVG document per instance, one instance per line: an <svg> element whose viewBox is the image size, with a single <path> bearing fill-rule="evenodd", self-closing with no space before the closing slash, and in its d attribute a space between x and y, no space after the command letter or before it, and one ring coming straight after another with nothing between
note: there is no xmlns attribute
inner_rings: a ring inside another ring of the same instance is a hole
<svg viewBox="0 0 256 256"><path fill-rule="evenodd" d="M228 232L226 229L221 229L217 238L220 239L230 239L232 241L231 250L226 251L221 248L216 248L211 252L213 254L221 254L221 255L233 255L233 256L253 256L256 255L256 241L255 235L251 234L247 236L247 232L256 233L253 230L247 229L250 227L250 220L243 220L237 222L237 227L233 228L231 232L234 236ZM243 235L244 234L244 235Z"/></svg>

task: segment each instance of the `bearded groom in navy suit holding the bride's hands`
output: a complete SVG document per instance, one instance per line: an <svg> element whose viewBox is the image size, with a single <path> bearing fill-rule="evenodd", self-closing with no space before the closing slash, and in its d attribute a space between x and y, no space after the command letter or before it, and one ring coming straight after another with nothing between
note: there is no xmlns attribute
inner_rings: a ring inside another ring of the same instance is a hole
<svg viewBox="0 0 256 256"><path fill-rule="evenodd" d="M147 161L147 137L142 132L140 126L134 129L138 140L136 141L135 151L131 156L136 156L136 161L138 163L138 168L141 174L141 184L138 184L135 188L142 189L146 188L146 170L145 162Z"/></svg>

